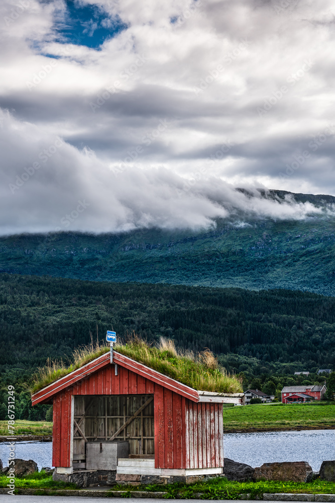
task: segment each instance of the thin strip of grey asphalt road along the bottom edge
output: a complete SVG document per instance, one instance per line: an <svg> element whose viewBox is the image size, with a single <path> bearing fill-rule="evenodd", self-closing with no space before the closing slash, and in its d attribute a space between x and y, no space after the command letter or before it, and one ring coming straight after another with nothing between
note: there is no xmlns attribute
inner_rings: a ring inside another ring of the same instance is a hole
<svg viewBox="0 0 335 503"><path fill-rule="evenodd" d="M11 494L0 494L0 503L8 503L8 498ZM89 497L89 496L24 496L16 495L14 496L15 503L59 503L59 499L62 498L64 503L79 503L81 499L85 500L85 503L106 503L106 498L102 497ZM132 498L134 499L134 498ZM153 499L153 498L135 498L139 503L153 503L154 501L161 501L166 503L166 499ZM125 498L108 498L108 501L113 501L113 503L125 503ZM176 503L184 503L185 499L174 499ZM220 501L222 499L192 499L192 503L203 503L204 501L210 501L211 503ZM227 501L227 499L226 499ZM240 503L250 503L250 500L239 499ZM273 501L266 501L265 503L273 503ZM287 501L276 501L276 503L287 503Z"/></svg>

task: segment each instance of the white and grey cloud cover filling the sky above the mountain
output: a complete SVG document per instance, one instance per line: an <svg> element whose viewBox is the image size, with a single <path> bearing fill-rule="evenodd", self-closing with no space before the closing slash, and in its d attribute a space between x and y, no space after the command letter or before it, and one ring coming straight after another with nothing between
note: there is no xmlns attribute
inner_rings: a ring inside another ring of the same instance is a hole
<svg viewBox="0 0 335 503"><path fill-rule="evenodd" d="M65 0L2 4L3 233L304 218L235 187L335 194L331 0L85 5L97 48L87 19L62 37Z"/></svg>

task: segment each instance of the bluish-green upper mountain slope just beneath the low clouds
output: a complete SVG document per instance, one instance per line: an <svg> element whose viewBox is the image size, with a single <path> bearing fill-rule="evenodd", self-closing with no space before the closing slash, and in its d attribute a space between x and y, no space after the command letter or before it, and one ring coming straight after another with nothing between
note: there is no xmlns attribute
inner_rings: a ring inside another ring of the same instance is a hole
<svg viewBox="0 0 335 503"><path fill-rule="evenodd" d="M334 295L333 220L217 221L216 228L207 231L5 236L0 237L0 270L92 281L285 288Z"/></svg>

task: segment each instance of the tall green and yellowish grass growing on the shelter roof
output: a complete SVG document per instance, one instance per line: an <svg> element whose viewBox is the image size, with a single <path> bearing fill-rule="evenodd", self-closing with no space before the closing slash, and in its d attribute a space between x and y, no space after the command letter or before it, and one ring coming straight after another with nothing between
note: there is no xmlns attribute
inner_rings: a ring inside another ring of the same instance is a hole
<svg viewBox="0 0 335 503"><path fill-rule="evenodd" d="M208 349L194 354L192 351L176 349L172 340L164 338L161 338L159 344L154 346L140 339L136 334L129 337L126 342L116 344L114 349L191 388L220 393L242 392L240 380L219 367L217 359ZM69 366L62 361L48 361L47 365L36 373L32 393L108 351L109 346L91 342L89 346L83 346L74 351L72 363Z"/></svg>

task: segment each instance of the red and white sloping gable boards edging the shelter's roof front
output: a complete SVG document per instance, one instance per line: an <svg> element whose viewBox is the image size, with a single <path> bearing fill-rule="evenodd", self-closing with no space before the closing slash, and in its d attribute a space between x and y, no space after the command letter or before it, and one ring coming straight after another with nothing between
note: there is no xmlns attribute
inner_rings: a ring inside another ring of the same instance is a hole
<svg viewBox="0 0 335 503"><path fill-rule="evenodd" d="M116 351L113 351L113 364L114 363L117 363L121 367L125 367L126 369L131 370L136 374L155 382L156 384L160 384L161 386L164 386L165 388L168 388L185 398L194 402L199 401L199 393L197 390L190 388L189 386L186 386L186 384L182 384L181 382L161 374L160 372L157 372L157 370L147 367L146 365L143 365L142 363L139 363L136 360L133 360ZM34 393L32 395L32 404L35 405L36 403L43 402L63 389L73 385L75 382L84 379L93 372L113 364L110 364L110 354L104 353L95 360L83 365L79 369L73 370L66 376L57 379L53 383Z"/></svg>

